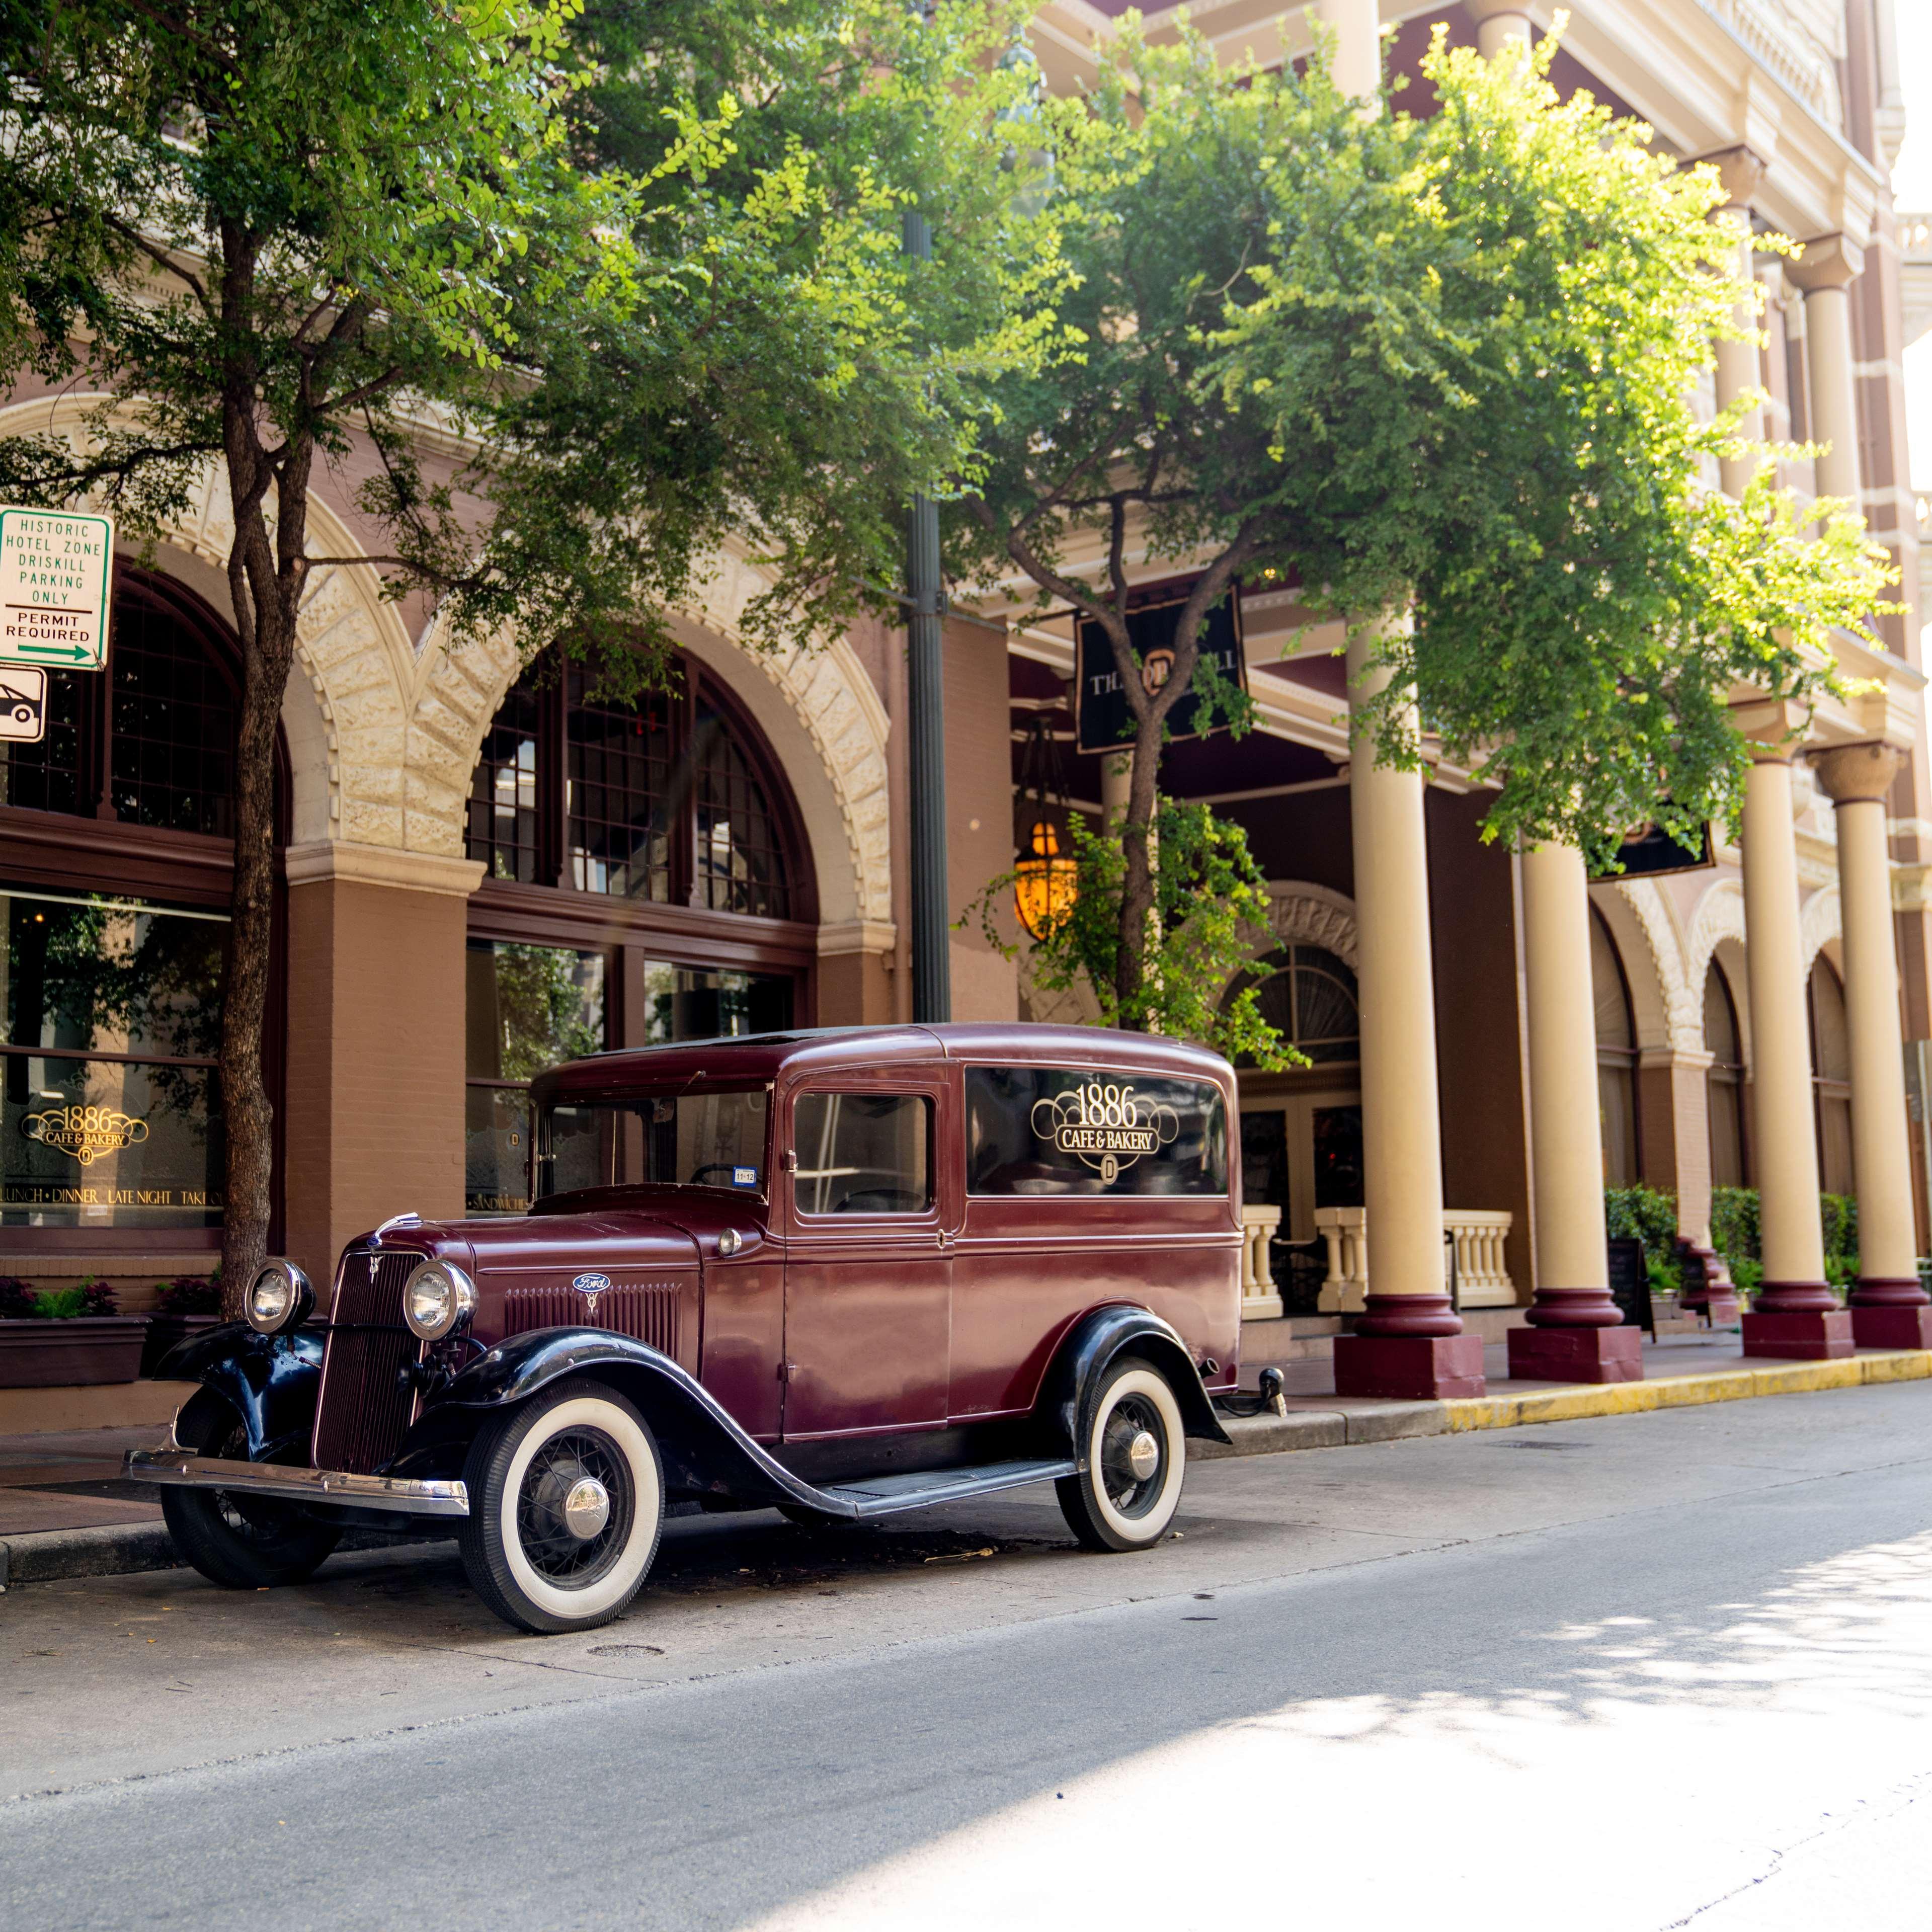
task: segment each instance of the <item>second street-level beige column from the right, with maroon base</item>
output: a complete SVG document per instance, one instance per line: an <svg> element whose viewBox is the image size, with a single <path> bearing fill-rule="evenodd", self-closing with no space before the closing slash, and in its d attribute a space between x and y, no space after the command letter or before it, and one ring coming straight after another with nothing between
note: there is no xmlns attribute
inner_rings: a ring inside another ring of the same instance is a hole
<svg viewBox="0 0 1932 1932"><path fill-rule="evenodd" d="M1851 1352L1851 1316L1824 1281L1791 752L1764 744L1752 748L1752 759L1745 781L1745 972L1764 1287L1745 1316L1745 1354L1814 1360Z"/></svg>

